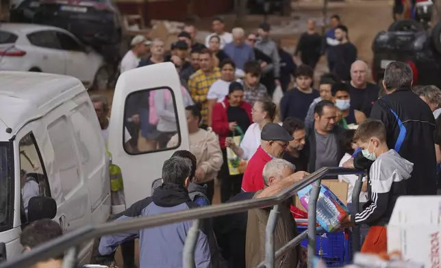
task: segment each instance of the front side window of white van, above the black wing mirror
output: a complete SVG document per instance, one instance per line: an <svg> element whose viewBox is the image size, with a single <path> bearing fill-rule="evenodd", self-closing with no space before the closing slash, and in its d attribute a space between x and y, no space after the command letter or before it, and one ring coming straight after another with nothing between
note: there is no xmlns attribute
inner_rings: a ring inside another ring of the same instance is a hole
<svg viewBox="0 0 441 268"><path fill-rule="evenodd" d="M25 135L18 145L20 150L20 177L22 208L27 211L29 200L34 196L51 196L45 164L32 133Z"/></svg>

